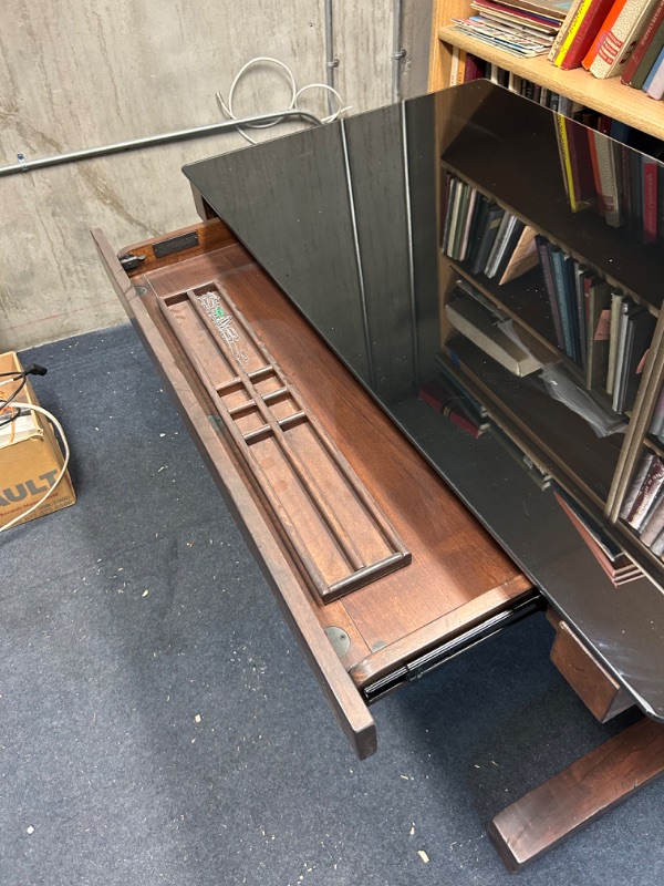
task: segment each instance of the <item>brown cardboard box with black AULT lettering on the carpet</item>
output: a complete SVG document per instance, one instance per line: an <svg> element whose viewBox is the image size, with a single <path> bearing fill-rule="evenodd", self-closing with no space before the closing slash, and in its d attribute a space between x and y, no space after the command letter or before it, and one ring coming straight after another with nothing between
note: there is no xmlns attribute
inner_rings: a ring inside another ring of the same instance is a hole
<svg viewBox="0 0 664 886"><path fill-rule="evenodd" d="M15 352L0 354L0 372L21 371ZM19 385L20 381L8 382L7 377L0 375L0 399L7 400ZM29 381L13 403L39 405ZM0 427L0 526L10 523L39 502L53 486L63 463L64 456L45 415L31 412ZM69 507L75 501L74 488L69 472L65 471L43 504L14 526Z"/></svg>

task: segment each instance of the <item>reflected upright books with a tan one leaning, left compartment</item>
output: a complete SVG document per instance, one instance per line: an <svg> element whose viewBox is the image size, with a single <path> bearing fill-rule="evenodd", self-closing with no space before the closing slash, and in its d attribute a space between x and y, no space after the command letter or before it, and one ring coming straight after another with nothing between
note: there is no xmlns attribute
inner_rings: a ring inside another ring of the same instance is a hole
<svg viewBox="0 0 664 886"><path fill-rule="evenodd" d="M500 286L538 264L535 231L457 176L445 178L442 248Z"/></svg>

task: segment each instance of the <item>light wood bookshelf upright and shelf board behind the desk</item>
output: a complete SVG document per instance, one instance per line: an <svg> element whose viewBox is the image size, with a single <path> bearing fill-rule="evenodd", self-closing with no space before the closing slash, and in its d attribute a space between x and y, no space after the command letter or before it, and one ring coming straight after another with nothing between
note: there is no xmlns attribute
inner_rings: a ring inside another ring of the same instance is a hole
<svg viewBox="0 0 664 886"><path fill-rule="evenodd" d="M430 91L449 85L452 48L458 47L601 114L664 140L664 102L655 102L639 90L625 86L620 78L598 80L583 69L561 71L546 55L519 59L449 27L453 18L466 18L468 14L468 0L436 0L434 4L428 81Z"/></svg>

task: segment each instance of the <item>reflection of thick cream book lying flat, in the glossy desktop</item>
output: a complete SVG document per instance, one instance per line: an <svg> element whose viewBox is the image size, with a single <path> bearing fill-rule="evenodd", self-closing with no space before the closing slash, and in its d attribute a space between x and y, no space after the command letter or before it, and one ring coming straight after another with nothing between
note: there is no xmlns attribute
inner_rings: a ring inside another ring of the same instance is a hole
<svg viewBox="0 0 664 886"><path fill-rule="evenodd" d="M475 299L466 296L448 301L445 313L452 326L515 375L529 375L540 363L498 328Z"/></svg>

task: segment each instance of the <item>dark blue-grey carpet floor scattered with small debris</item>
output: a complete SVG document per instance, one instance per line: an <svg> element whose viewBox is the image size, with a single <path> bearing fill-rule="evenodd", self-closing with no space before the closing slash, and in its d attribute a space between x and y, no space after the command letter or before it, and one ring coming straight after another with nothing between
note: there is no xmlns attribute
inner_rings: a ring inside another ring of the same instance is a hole
<svg viewBox="0 0 664 886"><path fill-rule="evenodd" d="M376 704L360 762L131 327L23 360L79 501L0 536L3 886L664 883L664 782L517 879L486 836L631 717L542 616Z"/></svg>

